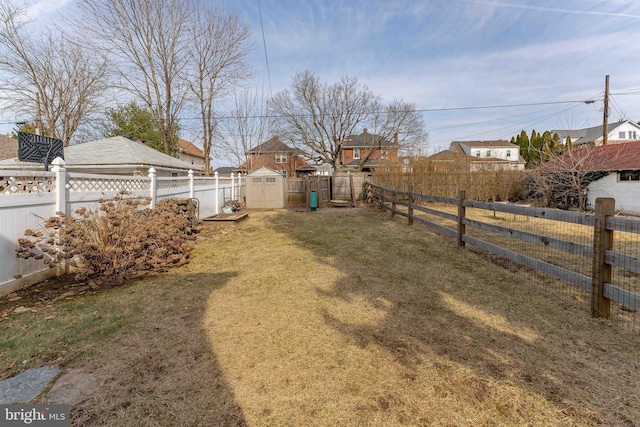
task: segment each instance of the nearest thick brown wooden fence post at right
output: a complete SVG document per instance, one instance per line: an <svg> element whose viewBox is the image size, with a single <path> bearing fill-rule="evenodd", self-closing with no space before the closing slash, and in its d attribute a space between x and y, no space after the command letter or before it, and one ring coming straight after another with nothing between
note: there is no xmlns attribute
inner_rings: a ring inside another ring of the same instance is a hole
<svg viewBox="0 0 640 427"><path fill-rule="evenodd" d="M607 217L615 214L615 200L597 198L593 227L593 269L591 274L591 316L608 319L611 300L604 296L604 284L611 283L610 264L605 263L605 252L613 248L613 230L607 230Z"/></svg>

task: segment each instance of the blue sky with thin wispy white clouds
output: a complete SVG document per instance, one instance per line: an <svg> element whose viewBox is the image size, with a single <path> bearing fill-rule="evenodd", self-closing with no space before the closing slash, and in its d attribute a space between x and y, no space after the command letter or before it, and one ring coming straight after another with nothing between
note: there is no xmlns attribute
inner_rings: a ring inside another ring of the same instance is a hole
<svg viewBox="0 0 640 427"><path fill-rule="evenodd" d="M327 83L355 77L422 111L427 154L454 140L600 125L606 75L610 121L640 120L637 0L219 3L251 30L254 88L276 94L304 70ZM47 21L71 1L28 4Z"/></svg>

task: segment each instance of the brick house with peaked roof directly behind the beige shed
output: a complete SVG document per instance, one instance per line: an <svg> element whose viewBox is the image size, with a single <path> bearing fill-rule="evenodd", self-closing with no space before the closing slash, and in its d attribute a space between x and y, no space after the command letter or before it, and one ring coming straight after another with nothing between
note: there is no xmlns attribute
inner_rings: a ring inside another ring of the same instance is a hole
<svg viewBox="0 0 640 427"><path fill-rule="evenodd" d="M246 155L247 160L240 165L240 169L247 173L265 167L293 177L296 176L296 171L309 166L302 150L289 147L278 135L252 148Z"/></svg>

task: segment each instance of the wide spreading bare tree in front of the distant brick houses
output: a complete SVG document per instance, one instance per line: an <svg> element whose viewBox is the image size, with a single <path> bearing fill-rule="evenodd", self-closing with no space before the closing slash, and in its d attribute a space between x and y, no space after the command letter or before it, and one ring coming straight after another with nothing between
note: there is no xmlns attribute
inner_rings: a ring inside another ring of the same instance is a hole
<svg viewBox="0 0 640 427"><path fill-rule="evenodd" d="M340 168L347 137L364 128L378 136L370 139L372 149L396 133L407 142L424 137L422 117L412 105L400 100L385 106L380 96L353 77L327 84L309 71L297 73L290 88L274 96L271 111L278 117L274 129L283 139L309 153L316 163L329 163L335 169Z"/></svg>

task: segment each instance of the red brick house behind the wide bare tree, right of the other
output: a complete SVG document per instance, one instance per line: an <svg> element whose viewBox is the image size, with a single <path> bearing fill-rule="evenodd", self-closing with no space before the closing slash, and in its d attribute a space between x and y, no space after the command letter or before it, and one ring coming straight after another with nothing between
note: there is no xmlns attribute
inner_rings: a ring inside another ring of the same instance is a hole
<svg viewBox="0 0 640 427"><path fill-rule="evenodd" d="M389 141L364 129L360 135L349 135L340 149L340 164L346 170L371 172L376 166L398 162L398 134Z"/></svg>

